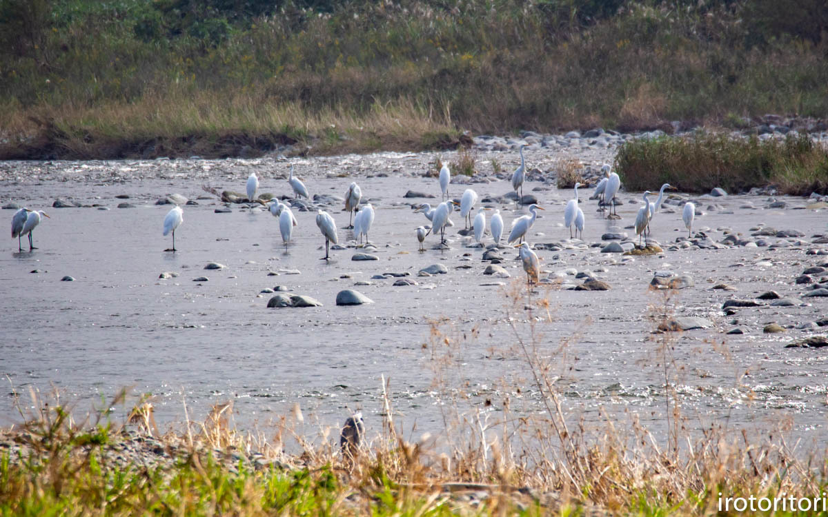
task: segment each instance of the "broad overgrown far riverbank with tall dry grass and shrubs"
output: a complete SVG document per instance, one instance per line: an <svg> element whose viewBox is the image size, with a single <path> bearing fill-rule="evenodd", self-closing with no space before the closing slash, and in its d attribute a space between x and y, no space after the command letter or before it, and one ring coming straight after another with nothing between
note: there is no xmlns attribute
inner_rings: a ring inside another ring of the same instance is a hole
<svg viewBox="0 0 828 517"><path fill-rule="evenodd" d="M820 2L3 0L0 158L828 113Z"/></svg>

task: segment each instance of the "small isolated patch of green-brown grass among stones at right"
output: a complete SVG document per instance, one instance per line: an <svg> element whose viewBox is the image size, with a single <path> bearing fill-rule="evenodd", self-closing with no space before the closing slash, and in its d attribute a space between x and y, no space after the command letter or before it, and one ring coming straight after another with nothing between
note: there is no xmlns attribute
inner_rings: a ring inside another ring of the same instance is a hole
<svg viewBox="0 0 828 517"><path fill-rule="evenodd" d="M669 183L684 192L721 187L738 194L773 185L781 194L828 194L828 148L809 136L760 141L725 134L627 141L616 159L630 190L657 190Z"/></svg>

